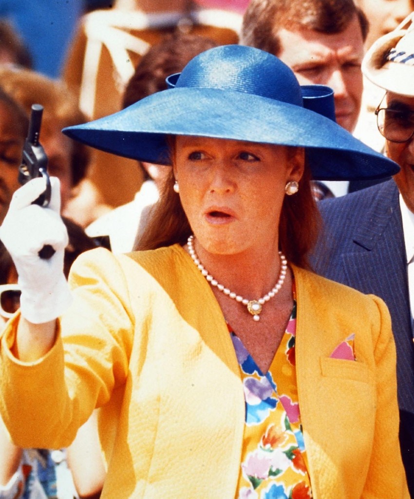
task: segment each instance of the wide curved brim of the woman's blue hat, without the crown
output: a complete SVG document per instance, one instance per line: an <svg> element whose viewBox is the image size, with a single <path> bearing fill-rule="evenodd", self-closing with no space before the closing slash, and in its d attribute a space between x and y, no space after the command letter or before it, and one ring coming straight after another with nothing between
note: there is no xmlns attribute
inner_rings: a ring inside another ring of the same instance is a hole
<svg viewBox="0 0 414 499"><path fill-rule="evenodd" d="M63 133L102 151L156 164L170 164L167 136L192 135L304 147L319 180L377 179L399 171L396 163L314 111L214 88L164 90Z"/></svg>

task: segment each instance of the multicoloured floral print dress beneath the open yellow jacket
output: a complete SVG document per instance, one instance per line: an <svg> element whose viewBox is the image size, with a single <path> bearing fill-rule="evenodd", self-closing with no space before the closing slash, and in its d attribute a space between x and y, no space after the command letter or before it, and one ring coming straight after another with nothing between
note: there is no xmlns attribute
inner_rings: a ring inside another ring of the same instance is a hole
<svg viewBox="0 0 414 499"><path fill-rule="evenodd" d="M296 300L282 341L262 373L229 326L246 402L236 499L312 497L295 370Z"/></svg>

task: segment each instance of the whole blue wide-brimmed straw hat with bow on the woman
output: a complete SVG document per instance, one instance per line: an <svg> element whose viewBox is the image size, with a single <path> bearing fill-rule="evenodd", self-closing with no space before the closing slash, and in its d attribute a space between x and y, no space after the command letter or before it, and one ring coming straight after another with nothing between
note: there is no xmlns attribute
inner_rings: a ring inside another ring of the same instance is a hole
<svg viewBox="0 0 414 499"><path fill-rule="evenodd" d="M173 80L174 88L63 132L149 163L170 163L167 136L193 135L304 147L320 180L375 179L399 171L333 121L330 89L301 87L291 69L268 52L241 45L211 48Z"/></svg>

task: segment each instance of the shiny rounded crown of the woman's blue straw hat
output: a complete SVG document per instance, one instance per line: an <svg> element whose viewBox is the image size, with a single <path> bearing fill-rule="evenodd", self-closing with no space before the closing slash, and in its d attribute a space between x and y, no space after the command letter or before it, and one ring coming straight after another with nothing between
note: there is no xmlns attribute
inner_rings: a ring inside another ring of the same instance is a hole
<svg viewBox="0 0 414 499"><path fill-rule="evenodd" d="M175 88L190 87L244 92L303 106L292 70L277 57L243 45L214 47L197 55L183 69Z"/></svg>

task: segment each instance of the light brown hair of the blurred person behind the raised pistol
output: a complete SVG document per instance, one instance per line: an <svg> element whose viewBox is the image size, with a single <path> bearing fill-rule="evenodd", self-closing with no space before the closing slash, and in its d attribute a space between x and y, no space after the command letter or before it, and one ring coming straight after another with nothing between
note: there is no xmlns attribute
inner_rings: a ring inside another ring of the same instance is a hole
<svg viewBox="0 0 414 499"><path fill-rule="evenodd" d="M85 123L76 98L64 83L53 80L29 69L0 67L0 87L17 101L27 113L33 103L44 107L43 120L57 120L61 127ZM71 171L72 186L76 186L86 175L89 149L73 141Z"/></svg>

